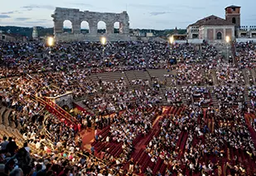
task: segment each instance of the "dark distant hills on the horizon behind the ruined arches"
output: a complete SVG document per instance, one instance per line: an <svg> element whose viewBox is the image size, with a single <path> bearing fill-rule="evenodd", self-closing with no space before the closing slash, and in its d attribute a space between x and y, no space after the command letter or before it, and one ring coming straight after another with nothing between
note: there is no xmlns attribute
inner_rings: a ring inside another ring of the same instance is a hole
<svg viewBox="0 0 256 176"><path fill-rule="evenodd" d="M115 29L116 30L116 29ZM133 31L134 29L131 29ZM166 29L166 30L150 30L150 29L138 29L142 33L152 32L155 36L167 36L169 34L173 34L177 32L178 34L186 34L186 29ZM20 27L20 26L0 26L0 31L5 31L9 33L19 34L22 36L27 36L31 38L32 36L32 27ZM52 36L53 35L53 28L44 28L44 27L37 27L38 36ZM70 32L70 29L65 29L64 31ZM82 32L87 33L88 30L82 30Z"/></svg>

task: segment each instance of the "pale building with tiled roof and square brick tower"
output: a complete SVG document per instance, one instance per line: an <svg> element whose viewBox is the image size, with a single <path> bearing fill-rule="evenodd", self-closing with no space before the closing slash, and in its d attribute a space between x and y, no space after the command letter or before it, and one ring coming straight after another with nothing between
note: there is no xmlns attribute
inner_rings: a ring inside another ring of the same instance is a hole
<svg viewBox="0 0 256 176"><path fill-rule="evenodd" d="M238 36L240 26L240 7L225 7L225 19L211 15L202 18L187 27L188 39L231 40Z"/></svg>

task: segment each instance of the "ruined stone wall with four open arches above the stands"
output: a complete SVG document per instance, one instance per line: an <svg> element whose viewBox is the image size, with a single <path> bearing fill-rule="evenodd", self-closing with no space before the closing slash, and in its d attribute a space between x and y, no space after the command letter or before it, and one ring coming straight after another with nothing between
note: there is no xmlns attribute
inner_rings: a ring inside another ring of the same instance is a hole
<svg viewBox="0 0 256 176"><path fill-rule="evenodd" d="M51 15L54 21L54 34L56 40L96 40L103 34L98 34L98 22L106 23L106 36L122 40L129 34L129 17L127 12L121 13L103 13L103 12L81 12L79 9L56 7L54 14ZM72 23L72 31L69 34L63 31L63 22L69 20ZM89 24L89 33L82 34L81 23L87 21ZM119 22L119 33L114 34L114 23Z"/></svg>

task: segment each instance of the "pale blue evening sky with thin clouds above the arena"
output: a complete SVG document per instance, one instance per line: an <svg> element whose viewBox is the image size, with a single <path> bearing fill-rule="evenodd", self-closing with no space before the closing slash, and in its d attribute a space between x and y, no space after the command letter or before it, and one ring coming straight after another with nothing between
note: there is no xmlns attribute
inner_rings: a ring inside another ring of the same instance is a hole
<svg viewBox="0 0 256 176"><path fill-rule="evenodd" d="M52 27L55 8L69 7L93 12L127 11L131 28L186 28L210 15L225 18L224 9L229 5L241 7L242 26L256 25L255 0L9 0L1 3L0 26ZM65 27L69 26L65 22Z"/></svg>

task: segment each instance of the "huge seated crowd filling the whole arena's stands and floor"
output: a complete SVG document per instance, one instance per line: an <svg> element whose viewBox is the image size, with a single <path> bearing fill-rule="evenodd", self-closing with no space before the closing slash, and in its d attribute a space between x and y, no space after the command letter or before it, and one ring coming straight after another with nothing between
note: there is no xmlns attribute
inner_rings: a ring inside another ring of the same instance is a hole
<svg viewBox="0 0 256 176"><path fill-rule="evenodd" d="M185 176L216 174L225 165L227 175L254 175L255 48L237 43L231 64L207 43L175 44L170 50L167 42L157 41L108 42L105 47L72 42L50 49L39 41L0 41L0 173ZM123 78L125 71L147 69L167 74ZM103 72L120 77L90 78ZM36 99L66 92L82 98L91 112L73 114L75 126ZM163 113L163 105L182 111ZM80 133L84 129L95 131L89 151ZM135 151L144 140L146 163ZM158 168L158 162L166 168Z"/></svg>

